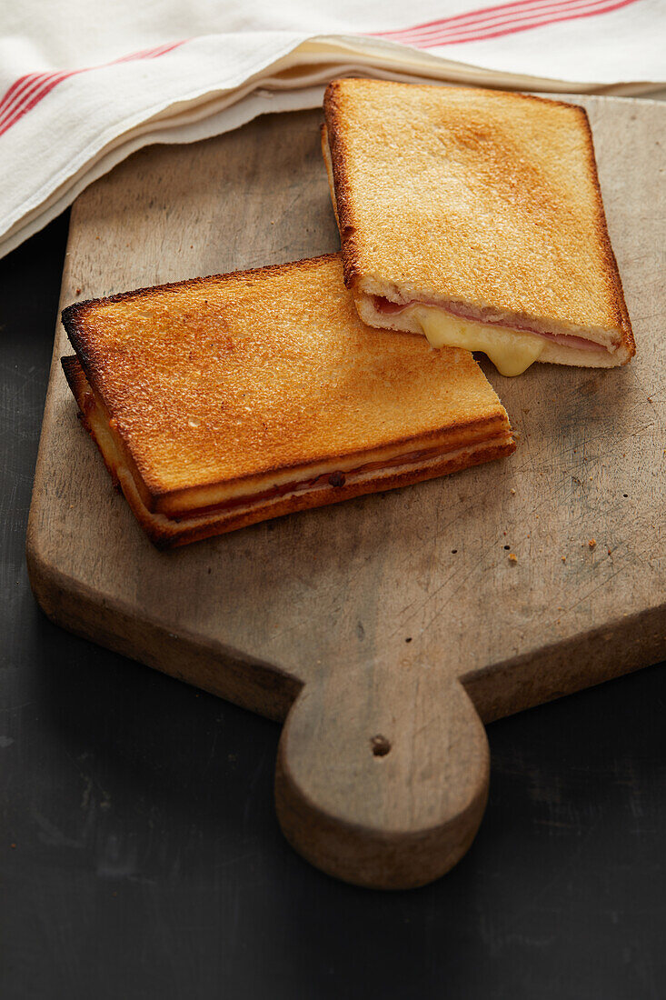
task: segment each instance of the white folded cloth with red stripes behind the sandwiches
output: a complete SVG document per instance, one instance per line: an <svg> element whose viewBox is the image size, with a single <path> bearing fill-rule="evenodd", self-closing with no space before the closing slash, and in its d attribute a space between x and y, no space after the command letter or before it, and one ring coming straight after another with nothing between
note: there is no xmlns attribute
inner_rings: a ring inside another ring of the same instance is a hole
<svg viewBox="0 0 666 1000"><path fill-rule="evenodd" d="M154 142L315 107L341 75L551 92L666 83L663 0L23 0L0 13L0 256Z"/></svg>

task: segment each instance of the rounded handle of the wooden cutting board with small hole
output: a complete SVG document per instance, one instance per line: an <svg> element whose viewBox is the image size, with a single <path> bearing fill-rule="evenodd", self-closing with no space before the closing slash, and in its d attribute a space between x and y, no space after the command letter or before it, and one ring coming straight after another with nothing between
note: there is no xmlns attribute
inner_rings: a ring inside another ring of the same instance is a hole
<svg viewBox="0 0 666 1000"><path fill-rule="evenodd" d="M296 850L357 885L406 889L469 848L488 795L486 733L462 684L406 660L307 684L285 723L275 797Z"/></svg>

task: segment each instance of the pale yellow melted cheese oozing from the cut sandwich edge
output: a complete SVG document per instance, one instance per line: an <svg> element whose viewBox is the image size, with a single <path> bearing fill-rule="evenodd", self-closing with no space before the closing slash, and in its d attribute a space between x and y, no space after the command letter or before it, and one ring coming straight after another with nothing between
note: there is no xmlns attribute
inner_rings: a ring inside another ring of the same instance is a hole
<svg viewBox="0 0 666 1000"><path fill-rule="evenodd" d="M483 351L500 375L522 375L544 349L541 337L505 326L488 326L452 316L442 309L415 306L413 315L432 347L462 347Z"/></svg>

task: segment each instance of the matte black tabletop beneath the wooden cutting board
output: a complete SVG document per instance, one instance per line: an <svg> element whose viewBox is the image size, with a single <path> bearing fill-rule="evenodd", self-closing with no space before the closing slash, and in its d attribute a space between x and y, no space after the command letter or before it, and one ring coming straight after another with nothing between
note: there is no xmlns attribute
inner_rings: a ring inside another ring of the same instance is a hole
<svg viewBox="0 0 666 1000"><path fill-rule="evenodd" d="M490 726L472 850L386 894L283 841L278 726L44 618L24 534L66 230L0 262L0 996L666 996L666 670Z"/></svg>

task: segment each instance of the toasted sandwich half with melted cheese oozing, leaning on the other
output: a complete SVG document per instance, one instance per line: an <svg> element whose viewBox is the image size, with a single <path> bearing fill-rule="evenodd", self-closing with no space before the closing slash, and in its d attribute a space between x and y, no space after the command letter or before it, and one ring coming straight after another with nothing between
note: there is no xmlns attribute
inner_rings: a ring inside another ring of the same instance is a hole
<svg viewBox="0 0 666 1000"><path fill-rule="evenodd" d="M322 150L361 319L534 360L635 353L583 108L522 94L335 80Z"/></svg>

